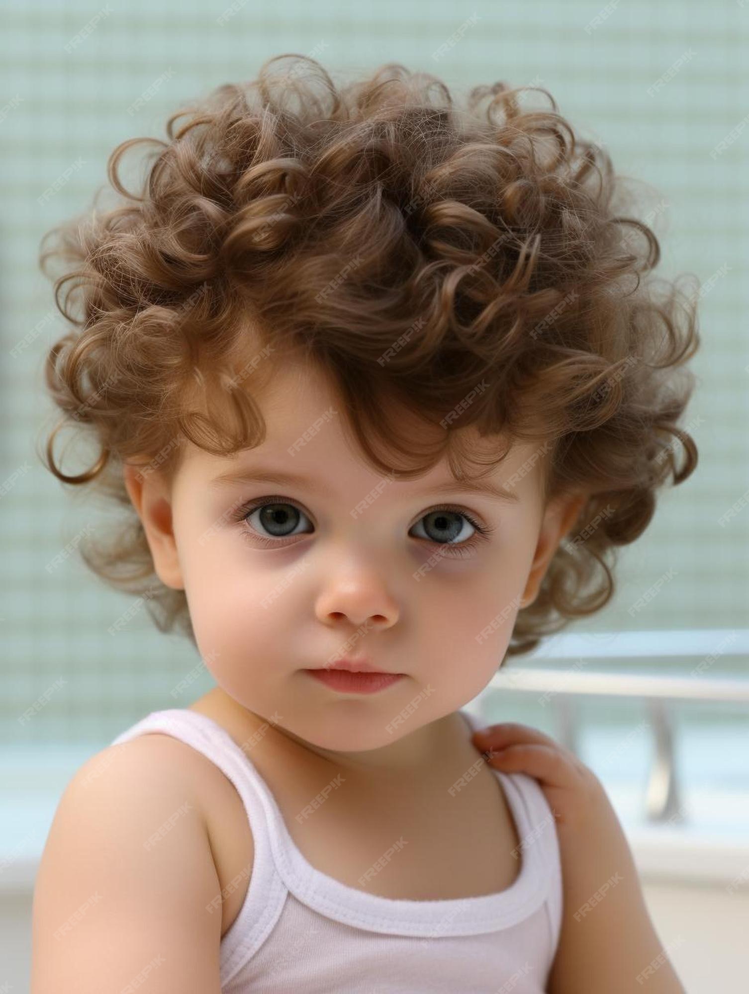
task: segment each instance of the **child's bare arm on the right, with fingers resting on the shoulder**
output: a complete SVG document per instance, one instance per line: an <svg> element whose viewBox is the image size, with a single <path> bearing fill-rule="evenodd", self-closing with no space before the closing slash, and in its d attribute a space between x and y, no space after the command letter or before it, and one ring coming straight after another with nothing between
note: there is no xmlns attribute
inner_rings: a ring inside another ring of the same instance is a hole
<svg viewBox="0 0 749 994"><path fill-rule="evenodd" d="M547 994L685 994L655 931L630 845L592 770L524 725L492 726L473 744L489 750L497 769L537 779L556 819L563 918Z"/></svg>

